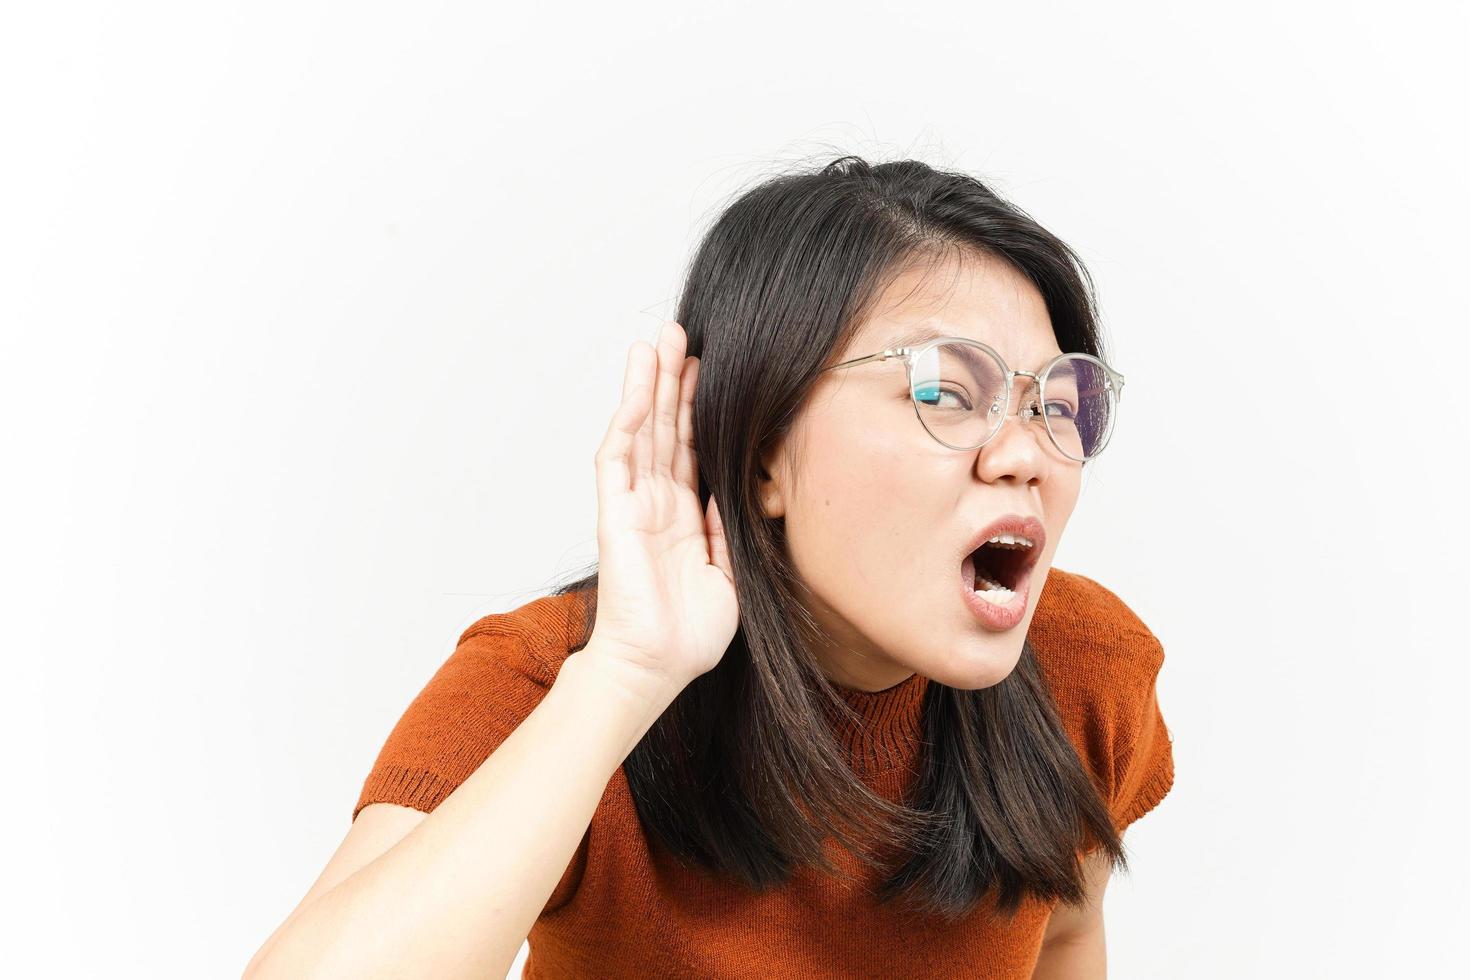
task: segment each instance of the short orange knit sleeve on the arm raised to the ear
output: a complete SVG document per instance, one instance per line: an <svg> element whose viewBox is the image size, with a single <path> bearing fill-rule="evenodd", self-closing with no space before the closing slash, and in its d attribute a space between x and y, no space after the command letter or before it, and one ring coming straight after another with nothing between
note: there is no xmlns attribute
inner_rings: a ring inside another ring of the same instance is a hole
<svg viewBox="0 0 1470 980"><path fill-rule="evenodd" d="M460 635L394 724L353 807L397 804L432 813L541 702L560 663L535 652L504 616L487 616ZM544 911L570 901L587 867L591 829Z"/></svg>

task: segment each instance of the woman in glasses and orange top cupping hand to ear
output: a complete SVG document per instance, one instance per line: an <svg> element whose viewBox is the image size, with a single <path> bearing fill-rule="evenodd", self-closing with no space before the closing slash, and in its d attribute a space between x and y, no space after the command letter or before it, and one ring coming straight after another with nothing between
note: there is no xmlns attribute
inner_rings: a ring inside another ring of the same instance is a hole
<svg viewBox="0 0 1470 980"><path fill-rule="evenodd" d="M248 976L1102 977L1163 649L1051 567L1123 378L1075 253L842 157L736 200L595 457Z"/></svg>

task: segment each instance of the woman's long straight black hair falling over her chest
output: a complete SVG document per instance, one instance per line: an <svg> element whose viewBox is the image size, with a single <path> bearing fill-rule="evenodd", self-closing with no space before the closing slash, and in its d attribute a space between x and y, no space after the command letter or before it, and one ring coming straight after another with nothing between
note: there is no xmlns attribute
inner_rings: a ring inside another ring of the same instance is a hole
<svg viewBox="0 0 1470 980"><path fill-rule="evenodd" d="M1092 279L1072 248L973 176L917 160L842 156L766 178L720 213L686 270L675 320L700 357L698 495L720 501L739 627L623 770L650 839L759 892L798 867L836 873L826 836L881 868L879 901L948 921L986 895L1004 915L1028 896L1079 904L1094 846L1126 868L1029 639L997 685L931 682L913 790L895 802L872 792L832 730L831 713L854 716L808 652L820 630L798 601L784 522L760 508L761 450L883 287L960 253L1011 263L1045 300L1060 348L1104 357ZM564 594L585 610L575 651L595 624L597 572L553 591Z"/></svg>

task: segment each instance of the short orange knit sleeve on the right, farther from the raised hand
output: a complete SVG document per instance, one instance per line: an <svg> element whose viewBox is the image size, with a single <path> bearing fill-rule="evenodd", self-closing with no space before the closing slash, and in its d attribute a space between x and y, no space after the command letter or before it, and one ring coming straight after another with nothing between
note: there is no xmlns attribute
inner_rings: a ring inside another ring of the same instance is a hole
<svg viewBox="0 0 1470 980"><path fill-rule="evenodd" d="M1173 735L1158 702L1163 644L1110 589L1060 569L1048 573L1028 639L1123 833L1175 780Z"/></svg>

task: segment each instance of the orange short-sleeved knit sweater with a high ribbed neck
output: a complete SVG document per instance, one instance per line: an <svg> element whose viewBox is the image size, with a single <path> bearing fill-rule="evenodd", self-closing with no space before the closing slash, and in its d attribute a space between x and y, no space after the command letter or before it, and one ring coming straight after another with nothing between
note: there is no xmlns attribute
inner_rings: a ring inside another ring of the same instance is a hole
<svg viewBox="0 0 1470 980"><path fill-rule="evenodd" d="M581 624L579 602L548 595L485 616L398 720L353 808L425 813L465 782L545 695ZM1113 592L1051 569L1032 648L1069 736L1122 830L1173 783L1172 736L1155 693L1163 646ZM928 679L842 691L863 727L838 732L854 771L898 799L914 776ZM754 895L676 864L642 833L619 767L535 926L522 976L563 977L1030 977L1050 905L1010 920L991 902L958 924L904 918L866 887L873 874L829 854L861 887L804 868Z"/></svg>

